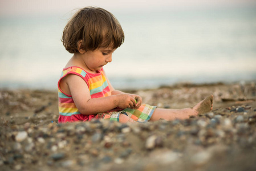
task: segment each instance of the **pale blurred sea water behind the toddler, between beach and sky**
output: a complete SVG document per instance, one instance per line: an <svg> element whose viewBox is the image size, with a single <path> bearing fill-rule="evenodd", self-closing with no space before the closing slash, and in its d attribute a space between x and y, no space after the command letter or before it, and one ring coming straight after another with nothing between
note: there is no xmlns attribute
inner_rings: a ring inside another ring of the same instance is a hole
<svg viewBox="0 0 256 171"><path fill-rule="evenodd" d="M104 67L116 89L256 80L255 6L112 13L125 33ZM0 88L56 89L69 17L0 17Z"/></svg>

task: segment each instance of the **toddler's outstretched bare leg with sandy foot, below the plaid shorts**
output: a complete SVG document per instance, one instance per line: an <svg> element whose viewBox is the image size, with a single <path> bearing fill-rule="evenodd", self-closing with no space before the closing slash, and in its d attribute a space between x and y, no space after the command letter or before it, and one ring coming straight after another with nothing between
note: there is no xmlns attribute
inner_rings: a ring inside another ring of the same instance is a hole
<svg viewBox="0 0 256 171"><path fill-rule="evenodd" d="M151 116L150 121L157 121L160 119L174 120L174 119L188 119L190 115L198 115L210 112L213 109L213 95L206 97L192 108L185 109L162 109L156 108Z"/></svg>

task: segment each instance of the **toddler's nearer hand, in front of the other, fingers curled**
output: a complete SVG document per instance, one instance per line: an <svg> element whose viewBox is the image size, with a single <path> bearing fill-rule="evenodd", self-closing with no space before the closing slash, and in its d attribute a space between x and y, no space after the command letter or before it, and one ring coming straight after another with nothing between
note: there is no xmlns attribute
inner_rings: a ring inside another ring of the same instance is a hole
<svg viewBox="0 0 256 171"><path fill-rule="evenodd" d="M121 109L133 108L136 105L135 98L131 95L124 93L117 96L117 107Z"/></svg>

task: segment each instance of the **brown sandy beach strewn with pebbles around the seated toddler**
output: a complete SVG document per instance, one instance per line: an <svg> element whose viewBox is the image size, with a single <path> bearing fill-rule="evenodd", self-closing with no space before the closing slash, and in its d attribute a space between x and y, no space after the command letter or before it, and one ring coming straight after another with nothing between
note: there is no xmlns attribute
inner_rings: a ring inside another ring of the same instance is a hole
<svg viewBox="0 0 256 171"><path fill-rule="evenodd" d="M159 108L213 111L186 120L58 124L58 93L0 91L0 170L256 170L256 82L127 90Z"/></svg>

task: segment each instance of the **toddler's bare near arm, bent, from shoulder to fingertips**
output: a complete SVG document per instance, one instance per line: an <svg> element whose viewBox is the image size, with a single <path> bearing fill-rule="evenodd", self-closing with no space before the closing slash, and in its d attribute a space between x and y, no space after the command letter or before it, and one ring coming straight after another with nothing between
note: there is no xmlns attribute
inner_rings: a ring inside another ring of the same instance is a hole
<svg viewBox="0 0 256 171"><path fill-rule="evenodd" d="M64 80L79 112L84 115L110 111L113 108L132 108L136 102L126 93L91 99L90 90L80 76L70 74Z"/></svg>

